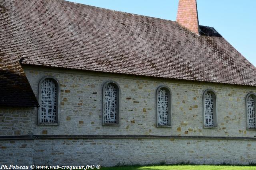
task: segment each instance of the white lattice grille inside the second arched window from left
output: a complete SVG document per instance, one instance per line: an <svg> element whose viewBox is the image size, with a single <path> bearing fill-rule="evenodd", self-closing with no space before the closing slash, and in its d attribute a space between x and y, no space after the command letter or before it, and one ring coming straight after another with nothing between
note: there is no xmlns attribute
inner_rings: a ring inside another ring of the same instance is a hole
<svg viewBox="0 0 256 170"><path fill-rule="evenodd" d="M118 89L114 83L106 84L104 88L104 124L118 123Z"/></svg>

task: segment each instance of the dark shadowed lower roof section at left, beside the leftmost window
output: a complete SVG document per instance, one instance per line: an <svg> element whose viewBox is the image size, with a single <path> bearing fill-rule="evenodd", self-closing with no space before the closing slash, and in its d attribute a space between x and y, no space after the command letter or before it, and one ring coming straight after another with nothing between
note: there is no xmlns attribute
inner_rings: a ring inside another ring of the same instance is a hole
<svg viewBox="0 0 256 170"><path fill-rule="evenodd" d="M38 106L17 57L0 51L0 106Z"/></svg>

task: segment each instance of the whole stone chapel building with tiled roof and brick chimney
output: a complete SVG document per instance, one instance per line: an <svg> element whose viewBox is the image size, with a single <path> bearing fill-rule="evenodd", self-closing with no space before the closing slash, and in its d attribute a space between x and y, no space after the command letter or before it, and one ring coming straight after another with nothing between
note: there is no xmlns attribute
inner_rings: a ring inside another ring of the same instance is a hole
<svg viewBox="0 0 256 170"><path fill-rule="evenodd" d="M0 0L0 89L1 164L256 162L256 68L196 0L176 21Z"/></svg>

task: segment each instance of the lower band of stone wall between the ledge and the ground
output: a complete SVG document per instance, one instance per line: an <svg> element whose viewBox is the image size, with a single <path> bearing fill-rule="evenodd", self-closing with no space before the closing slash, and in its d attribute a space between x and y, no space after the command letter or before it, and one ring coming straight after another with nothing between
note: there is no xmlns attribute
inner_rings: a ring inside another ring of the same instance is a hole
<svg viewBox="0 0 256 170"><path fill-rule="evenodd" d="M255 141L184 139L55 139L0 142L1 164L248 164ZM4 149L3 149L4 148Z"/></svg>

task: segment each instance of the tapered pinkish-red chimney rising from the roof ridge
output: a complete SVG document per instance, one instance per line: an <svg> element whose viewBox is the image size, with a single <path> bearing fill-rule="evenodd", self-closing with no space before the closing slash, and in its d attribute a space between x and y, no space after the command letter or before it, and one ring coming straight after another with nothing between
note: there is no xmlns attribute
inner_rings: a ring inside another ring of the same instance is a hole
<svg viewBox="0 0 256 170"><path fill-rule="evenodd" d="M176 21L193 33L199 35L196 0L179 0Z"/></svg>

